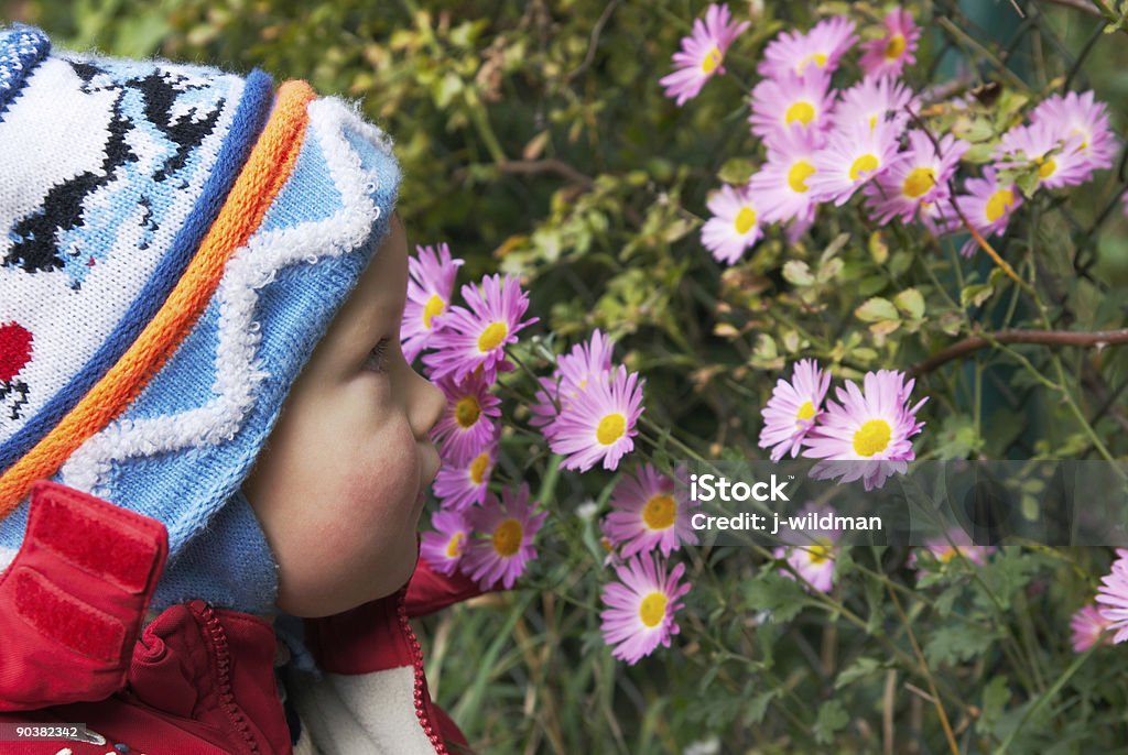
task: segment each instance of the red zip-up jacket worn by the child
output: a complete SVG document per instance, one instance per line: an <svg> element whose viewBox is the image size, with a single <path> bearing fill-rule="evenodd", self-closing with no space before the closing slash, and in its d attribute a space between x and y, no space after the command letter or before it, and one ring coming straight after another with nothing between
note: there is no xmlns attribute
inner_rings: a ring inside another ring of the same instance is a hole
<svg viewBox="0 0 1128 755"><path fill-rule="evenodd" d="M139 637L167 549L155 519L37 485L24 544L0 576L0 754L291 753L270 623L193 601ZM447 753L466 743L431 702L409 619L476 594L421 560L397 594L307 621L307 646L331 675L399 668L403 678L413 667L415 720ZM86 725L92 741L50 730L68 723ZM52 738L29 738L36 727Z"/></svg>

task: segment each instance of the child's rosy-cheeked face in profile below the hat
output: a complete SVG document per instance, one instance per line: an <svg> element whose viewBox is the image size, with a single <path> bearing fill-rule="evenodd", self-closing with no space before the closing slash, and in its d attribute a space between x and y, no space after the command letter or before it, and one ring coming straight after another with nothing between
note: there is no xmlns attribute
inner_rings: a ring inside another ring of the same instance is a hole
<svg viewBox="0 0 1128 755"><path fill-rule="evenodd" d="M244 492L280 567L277 605L338 613L411 577L428 433L444 399L399 350L407 240L398 217L294 382Z"/></svg>

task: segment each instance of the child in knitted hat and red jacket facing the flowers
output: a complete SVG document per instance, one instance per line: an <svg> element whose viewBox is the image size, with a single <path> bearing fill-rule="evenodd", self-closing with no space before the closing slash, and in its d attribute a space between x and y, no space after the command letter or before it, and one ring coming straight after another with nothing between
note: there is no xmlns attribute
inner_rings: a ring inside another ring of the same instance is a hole
<svg viewBox="0 0 1128 755"><path fill-rule="evenodd" d="M465 745L408 623L476 590L416 567L387 136L14 27L0 162L0 753Z"/></svg>

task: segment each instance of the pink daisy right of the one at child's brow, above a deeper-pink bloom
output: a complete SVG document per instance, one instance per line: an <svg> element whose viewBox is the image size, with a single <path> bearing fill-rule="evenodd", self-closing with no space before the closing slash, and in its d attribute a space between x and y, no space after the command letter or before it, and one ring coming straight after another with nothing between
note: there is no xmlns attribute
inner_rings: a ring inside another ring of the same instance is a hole
<svg viewBox="0 0 1128 755"><path fill-rule="evenodd" d="M462 286L466 307L451 307L442 316L442 328L431 337L430 352L423 363L431 378L452 375L456 381L481 368L487 384L505 370L505 346L517 343L517 334L539 318L521 320L529 309L529 295L521 291L517 278L488 275L482 285Z"/></svg>

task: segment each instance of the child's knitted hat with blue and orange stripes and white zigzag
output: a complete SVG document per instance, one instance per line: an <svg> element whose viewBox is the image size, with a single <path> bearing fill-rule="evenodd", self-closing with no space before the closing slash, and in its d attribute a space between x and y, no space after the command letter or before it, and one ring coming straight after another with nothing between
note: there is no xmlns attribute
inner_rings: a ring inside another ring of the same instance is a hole
<svg viewBox="0 0 1128 755"><path fill-rule="evenodd" d="M239 486L398 181L388 137L302 81L0 30L0 570L52 478L165 524L156 607L267 610Z"/></svg>

